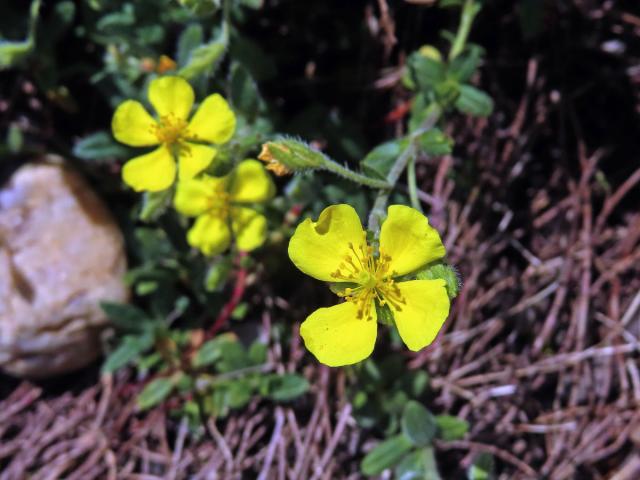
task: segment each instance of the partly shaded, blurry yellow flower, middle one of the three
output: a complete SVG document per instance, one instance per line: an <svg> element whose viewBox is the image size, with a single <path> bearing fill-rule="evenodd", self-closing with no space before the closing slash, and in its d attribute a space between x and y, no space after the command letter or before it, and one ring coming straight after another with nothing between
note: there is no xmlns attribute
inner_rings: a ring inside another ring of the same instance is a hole
<svg viewBox="0 0 640 480"><path fill-rule="evenodd" d="M267 236L267 219L247 204L273 197L271 177L257 160L244 160L225 177L202 175L180 180L173 199L176 210L197 217L187 241L205 255L217 255L229 247L231 236L248 252L260 247Z"/></svg>

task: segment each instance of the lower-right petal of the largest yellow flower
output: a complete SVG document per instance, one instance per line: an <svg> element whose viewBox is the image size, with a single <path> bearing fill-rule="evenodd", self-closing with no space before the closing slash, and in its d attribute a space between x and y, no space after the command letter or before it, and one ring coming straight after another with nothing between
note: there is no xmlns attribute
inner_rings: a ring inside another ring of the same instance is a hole
<svg viewBox="0 0 640 480"><path fill-rule="evenodd" d="M409 350L417 352L433 342L449 315L446 282L411 280L396 285L404 303L389 302L388 305L400 338Z"/></svg>

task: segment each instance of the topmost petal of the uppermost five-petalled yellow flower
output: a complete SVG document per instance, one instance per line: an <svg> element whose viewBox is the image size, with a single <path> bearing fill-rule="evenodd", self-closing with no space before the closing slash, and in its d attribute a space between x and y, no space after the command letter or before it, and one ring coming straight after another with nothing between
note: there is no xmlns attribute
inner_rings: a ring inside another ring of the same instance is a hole
<svg viewBox="0 0 640 480"><path fill-rule="evenodd" d="M149 85L149 101L160 117L187 120L193 107L193 88L184 78L160 77Z"/></svg>

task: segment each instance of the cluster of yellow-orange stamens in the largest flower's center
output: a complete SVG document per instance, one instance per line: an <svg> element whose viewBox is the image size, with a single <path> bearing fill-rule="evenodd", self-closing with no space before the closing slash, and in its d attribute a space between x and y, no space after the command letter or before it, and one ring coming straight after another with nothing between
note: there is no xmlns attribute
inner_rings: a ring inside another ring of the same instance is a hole
<svg viewBox="0 0 640 480"><path fill-rule="evenodd" d="M389 304L395 310L402 310L406 303L400 289L393 280L395 271L389 271L391 257L375 256L373 247L360 245L356 248L349 242L350 253L345 255L338 269L331 274L337 281L356 283L355 288L345 288L338 295L357 305L357 317L371 320L371 309L376 301L380 306Z"/></svg>

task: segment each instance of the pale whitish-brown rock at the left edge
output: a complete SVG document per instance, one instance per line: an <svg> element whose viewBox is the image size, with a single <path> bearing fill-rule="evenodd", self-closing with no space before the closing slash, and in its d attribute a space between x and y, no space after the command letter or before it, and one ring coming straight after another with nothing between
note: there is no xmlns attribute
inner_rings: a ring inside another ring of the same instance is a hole
<svg viewBox="0 0 640 480"><path fill-rule="evenodd" d="M122 234L61 162L23 166L0 188L0 369L45 378L100 354L100 301L125 302Z"/></svg>

